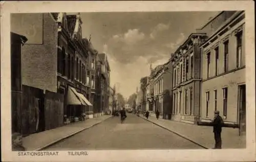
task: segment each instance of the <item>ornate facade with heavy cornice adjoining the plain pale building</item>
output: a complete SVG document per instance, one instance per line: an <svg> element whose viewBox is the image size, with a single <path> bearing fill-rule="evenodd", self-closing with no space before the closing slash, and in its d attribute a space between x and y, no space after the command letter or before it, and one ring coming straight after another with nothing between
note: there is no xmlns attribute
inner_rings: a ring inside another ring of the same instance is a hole
<svg viewBox="0 0 256 162"><path fill-rule="evenodd" d="M172 54L173 109L172 119L196 124L200 115L200 44L206 33L192 33Z"/></svg>

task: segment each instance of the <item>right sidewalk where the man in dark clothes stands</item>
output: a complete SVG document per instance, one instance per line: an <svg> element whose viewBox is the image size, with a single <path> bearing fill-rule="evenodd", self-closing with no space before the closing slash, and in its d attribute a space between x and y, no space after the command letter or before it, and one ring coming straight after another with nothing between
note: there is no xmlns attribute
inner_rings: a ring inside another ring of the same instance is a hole
<svg viewBox="0 0 256 162"><path fill-rule="evenodd" d="M142 115L140 117L147 120ZM213 128L210 126L198 126L164 119L157 120L155 116L149 117L147 121L187 138L187 140L197 143L206 149L214 147L214 133L212 132ZM222 128L221 137L223 149L246 148L246 136L239 136L238 128Z"/></svg>

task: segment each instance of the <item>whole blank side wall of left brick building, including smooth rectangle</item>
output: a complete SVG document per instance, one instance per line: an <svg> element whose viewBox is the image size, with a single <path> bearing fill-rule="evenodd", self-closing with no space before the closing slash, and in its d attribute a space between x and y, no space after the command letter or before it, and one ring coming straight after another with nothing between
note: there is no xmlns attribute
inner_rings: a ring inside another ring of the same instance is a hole
<svg viewBox="0 0 256 162"><path fill-rule="evenodd" d="M28 38L23 47L23 84L57 92L57 24L50 13L11 15L11 31Z"/></svg>

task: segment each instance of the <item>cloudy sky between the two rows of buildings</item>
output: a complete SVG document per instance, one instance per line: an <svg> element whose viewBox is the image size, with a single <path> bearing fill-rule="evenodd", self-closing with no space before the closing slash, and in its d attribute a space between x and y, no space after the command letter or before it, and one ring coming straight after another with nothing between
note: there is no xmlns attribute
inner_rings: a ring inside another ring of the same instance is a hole
<svg viewBox="0 0 256 162"><path fill-rule="evenodd" d="M167 62L190 33L218 12L111 12L81 13L82 36L108 55L111 86L128 98L141 77Z"/></svg>

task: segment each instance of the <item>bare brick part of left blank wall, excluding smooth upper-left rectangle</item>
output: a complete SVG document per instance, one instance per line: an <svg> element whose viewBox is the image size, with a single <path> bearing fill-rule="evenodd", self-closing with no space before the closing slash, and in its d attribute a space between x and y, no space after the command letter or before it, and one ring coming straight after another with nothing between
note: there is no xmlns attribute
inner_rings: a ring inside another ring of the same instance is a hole
<svg viewBox="0 0 256 162"><path fill-rule="evenodd" d="M43 43L25 44L23 48L23 84L56 92L57 26L49 13L43 15Z"/></svg>

